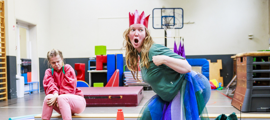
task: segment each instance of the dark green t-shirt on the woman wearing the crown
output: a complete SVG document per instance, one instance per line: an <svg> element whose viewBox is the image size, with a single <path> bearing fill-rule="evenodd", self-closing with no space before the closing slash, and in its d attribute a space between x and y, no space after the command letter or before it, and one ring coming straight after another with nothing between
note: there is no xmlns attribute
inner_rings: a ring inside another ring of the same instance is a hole
<svg viewBox="0 0 270 120"><path fill-rule="evenodd" d="M142 58L141 53L139 55ZM148 56L150 60L149 68L140 67L143 81L148 83L164 101L169 102L180 90L185 74L178 73L165 64L155 65L152 60L155 55L167 55L177 59L184 58L163 45L153 44Z"/></svg>

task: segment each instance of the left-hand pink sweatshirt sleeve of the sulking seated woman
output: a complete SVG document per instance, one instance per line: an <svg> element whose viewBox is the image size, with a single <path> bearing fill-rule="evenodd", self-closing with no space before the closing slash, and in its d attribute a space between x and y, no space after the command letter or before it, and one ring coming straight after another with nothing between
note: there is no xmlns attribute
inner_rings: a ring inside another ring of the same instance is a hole
<svg viewBox="0 0 270 120"><path fill-rule="evenodd" d="M55 83L53 77L52 77L52 70L51 69L47 69L45 72L45 76L43 79L43 86L44 86L44 90L45 90L45 94L54 94L54 93L58 93L59 94L59 89L57 87L57 84Z"/></svg>

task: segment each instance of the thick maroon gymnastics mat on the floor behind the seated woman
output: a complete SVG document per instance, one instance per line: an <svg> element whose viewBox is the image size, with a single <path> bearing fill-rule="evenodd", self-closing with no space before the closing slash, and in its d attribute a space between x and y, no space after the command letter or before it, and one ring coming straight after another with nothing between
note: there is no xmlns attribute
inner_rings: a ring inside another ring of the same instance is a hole
<svg viewBox="0 0 270 120"><path fill-rule="evenodd" d="M78 88L83 92L86 107L136 107L143 98L143 86Z"/></svg>

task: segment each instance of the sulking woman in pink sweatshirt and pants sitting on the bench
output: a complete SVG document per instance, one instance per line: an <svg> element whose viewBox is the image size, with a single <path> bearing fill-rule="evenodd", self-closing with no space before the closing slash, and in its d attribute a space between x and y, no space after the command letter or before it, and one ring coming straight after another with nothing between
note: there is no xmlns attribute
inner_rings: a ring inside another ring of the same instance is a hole
<svg viewBox="0 0 270 120"><path fill-rule="evenodd" d="M48 65L43 79L46 97L41 119L49 120L52 110L62 115L63 120L71 120L74 113L82 113L86 103L82 91L76 88L77 78L74 69L64 64L62 52L52 49L47 54Z"/></svg>

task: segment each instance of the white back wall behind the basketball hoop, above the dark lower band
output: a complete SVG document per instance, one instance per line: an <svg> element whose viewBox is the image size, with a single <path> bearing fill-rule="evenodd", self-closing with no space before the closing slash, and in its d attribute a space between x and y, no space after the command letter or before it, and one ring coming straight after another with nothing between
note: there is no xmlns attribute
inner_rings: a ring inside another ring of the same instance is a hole
<svg viewBox="0 0 270 120"><path fill-rule="evenodd" d="M102 0L50 1L50 39L46 48L60 49L65 58L95 57L96 45L120 49L122 34L128 28L128 13L143 10L146 15L162 6L181 7L184 24L179 36L184 36L186 55L236 54L269 49L268 0ZM164 30L152 28L152 37L163 37ZM254 39L248 39L253 34ZM161 44L163 39L154 39ZM174 41L168 40L168 46ZM119 53L107 50L107 53ZM40 54L41 55L41 54ZM45 53L46 55L46 53ZM44 55L44 57L46 57Z"/></svg>

